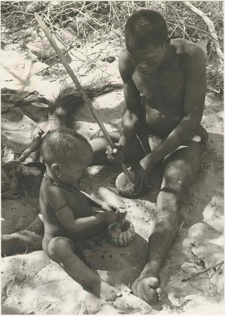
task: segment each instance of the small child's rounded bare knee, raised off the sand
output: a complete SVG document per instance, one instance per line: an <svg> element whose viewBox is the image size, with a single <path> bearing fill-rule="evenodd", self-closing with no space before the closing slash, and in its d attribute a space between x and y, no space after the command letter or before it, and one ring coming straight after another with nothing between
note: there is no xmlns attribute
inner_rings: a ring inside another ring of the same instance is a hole
<svg viewBox="0 0 225 316"><path fill-rule="evenodd" d="M52 259L63 262L74 253L74 244L69 238L54 237L48 244L48 252Z"/></svg>

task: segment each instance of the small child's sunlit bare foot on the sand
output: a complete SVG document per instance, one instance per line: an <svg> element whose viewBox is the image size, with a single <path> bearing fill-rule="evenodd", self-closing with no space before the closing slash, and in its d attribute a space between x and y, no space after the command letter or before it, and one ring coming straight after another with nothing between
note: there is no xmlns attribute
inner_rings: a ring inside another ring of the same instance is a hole
<svg viewBox="0 0 225 316"><path fill-rule="evenodd" d="M92 291L105 301L114 301L117 297L121 296L120 291L102 279L99 284L92 287Z"/></svg>

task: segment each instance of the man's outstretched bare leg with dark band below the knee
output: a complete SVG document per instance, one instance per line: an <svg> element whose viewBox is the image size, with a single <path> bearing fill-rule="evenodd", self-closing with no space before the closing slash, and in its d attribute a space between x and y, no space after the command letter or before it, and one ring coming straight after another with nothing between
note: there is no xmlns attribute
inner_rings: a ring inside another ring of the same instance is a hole
<svg viewBox="0 0 225 316"><path fill-rule="evenodd" d="M193 182L200 165L200 145L191 142L165 159L162 186L158 198L158 216L155 229L149 237L146 264L132 285L135 295L149 304L162 298L159 270L170 248L178 227L181 197Z"/></svg>

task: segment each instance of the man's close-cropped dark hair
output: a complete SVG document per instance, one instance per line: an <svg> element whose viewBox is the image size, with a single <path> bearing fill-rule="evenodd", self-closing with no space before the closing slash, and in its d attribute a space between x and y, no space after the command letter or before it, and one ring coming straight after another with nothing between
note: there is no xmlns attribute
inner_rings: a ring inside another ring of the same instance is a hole
<svg viewBox="0 0 225 316"><path fill-rule="evenodd" d="M168 37L167 24L157 11L142 9L133 13L125 27L128 51L162 46Z"/></svg>

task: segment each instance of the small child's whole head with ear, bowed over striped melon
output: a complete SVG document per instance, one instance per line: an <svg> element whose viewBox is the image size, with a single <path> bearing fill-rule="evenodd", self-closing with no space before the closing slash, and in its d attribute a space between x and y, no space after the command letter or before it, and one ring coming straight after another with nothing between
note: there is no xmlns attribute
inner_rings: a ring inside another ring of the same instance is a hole
<svg viewBox="0 0 225 316"><path fill-rule="evenodd" d="M47 172L68 184L80 180L84 168L93 158L87 139L70 128L50 132L43 140L41 150Z"/></svg>

